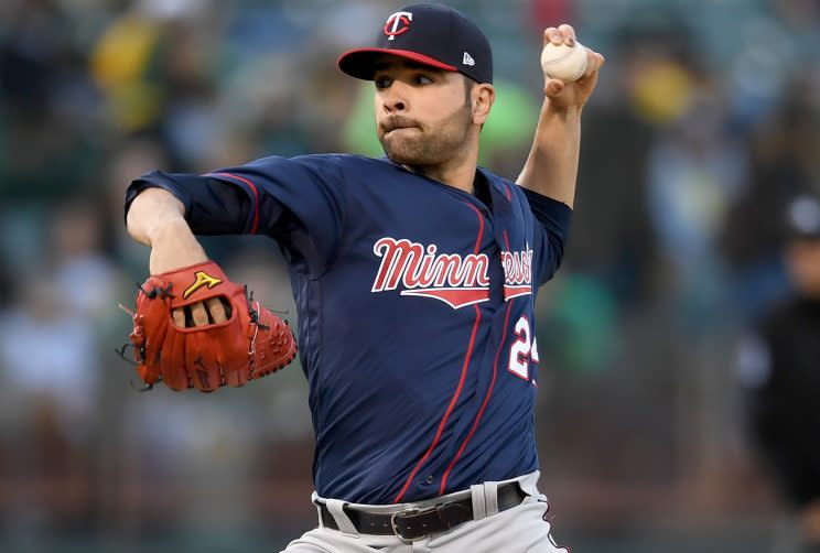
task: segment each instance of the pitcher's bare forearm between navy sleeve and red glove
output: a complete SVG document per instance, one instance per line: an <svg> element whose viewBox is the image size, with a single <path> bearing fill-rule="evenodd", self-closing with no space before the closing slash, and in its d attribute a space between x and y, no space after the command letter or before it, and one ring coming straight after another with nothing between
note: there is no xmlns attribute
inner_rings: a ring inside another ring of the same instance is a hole
<svg viewBox="0 0 820 553"><path fill-rule="evenodd" d="M134 240L151 247L151 273L207 260L184 213L182 203L162 188L148 188L131 202L127 217L128 232Z"/></svg>

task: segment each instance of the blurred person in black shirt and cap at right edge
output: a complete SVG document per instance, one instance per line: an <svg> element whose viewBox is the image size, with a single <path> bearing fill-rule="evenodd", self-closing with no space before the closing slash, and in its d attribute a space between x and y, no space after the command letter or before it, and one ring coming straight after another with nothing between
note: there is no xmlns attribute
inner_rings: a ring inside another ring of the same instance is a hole
<svg viewBox="0 0 820 553"><path fill-rule="evenodd" d="M752 438L796 509L801 552L820 553L820 199L788 206L792 292L740 348Z"/></svg>

